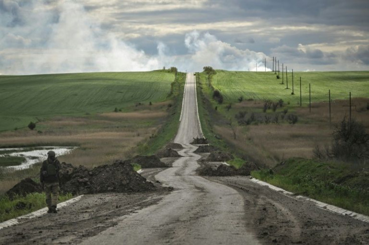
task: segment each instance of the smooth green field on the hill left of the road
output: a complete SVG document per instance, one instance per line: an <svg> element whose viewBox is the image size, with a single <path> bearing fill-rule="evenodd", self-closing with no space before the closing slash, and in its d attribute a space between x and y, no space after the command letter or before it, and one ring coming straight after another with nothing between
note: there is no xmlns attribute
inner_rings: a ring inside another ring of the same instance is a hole
<svg viewBox="0 0 369 245"><path fill-rule="evenodd" d="M104 72L0 76L0 131L56 115L129 110L163 101L174 73Z"/></svg>

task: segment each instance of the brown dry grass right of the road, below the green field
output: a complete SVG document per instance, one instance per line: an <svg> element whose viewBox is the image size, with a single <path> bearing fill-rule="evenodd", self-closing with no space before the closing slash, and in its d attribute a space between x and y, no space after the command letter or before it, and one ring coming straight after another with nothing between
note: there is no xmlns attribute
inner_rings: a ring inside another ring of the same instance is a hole
<svg viewBox="0 0 369 245"><path fill-rule="evenodd" d="M366 109L367 98L354 98L351 101L352 118L362 122L369 131L369 110ZM344 116L348 116L348 100L337 100L331 104L332 124L329 125L329 104L327 102L312 104L309 108L291 107L289 110L298 115L296 124L259 124L237 126L237 137L227 125L215 125L214 130L235 148L268 167L289 157L313 156L314 147L330 144L334 125ZM233 110L260 110L263 101L243 101L235 104Z"/></svg>

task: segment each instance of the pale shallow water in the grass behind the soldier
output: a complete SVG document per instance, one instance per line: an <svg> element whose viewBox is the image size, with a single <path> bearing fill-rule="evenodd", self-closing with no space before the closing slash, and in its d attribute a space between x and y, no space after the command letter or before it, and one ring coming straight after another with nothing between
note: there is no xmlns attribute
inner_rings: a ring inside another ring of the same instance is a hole
<svg viewBox="0 0 369 245"><path fill-rule="evenodd" d="M1 168L11 168L15 170L26 169L31 167L37 162L42 162L47 158L49 150L54 150L56 156L69 154L72 150L77 147L66 147L66 146L40 146L32 148L2 148L0 149L1 156L22 156L26 158L25 161L21 162L20 165L16 166L4 166Z"/></svg>

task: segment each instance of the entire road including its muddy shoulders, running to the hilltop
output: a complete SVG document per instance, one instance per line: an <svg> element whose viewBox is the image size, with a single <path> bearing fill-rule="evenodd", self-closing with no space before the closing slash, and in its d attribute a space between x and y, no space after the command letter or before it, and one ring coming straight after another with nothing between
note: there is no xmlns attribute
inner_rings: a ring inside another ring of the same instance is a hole
<svg viewBox="0 0 369 245"><path fill-rule="evenodd" d="M0 230L0 244L368 244L369 224L319 209L247 176L201 177L195 81L188 74L170 168L144 169L145 193L85 195L58 214ZM158 181L158 182L157 182ZM174 190L160 188L172 186Z"/></svg>

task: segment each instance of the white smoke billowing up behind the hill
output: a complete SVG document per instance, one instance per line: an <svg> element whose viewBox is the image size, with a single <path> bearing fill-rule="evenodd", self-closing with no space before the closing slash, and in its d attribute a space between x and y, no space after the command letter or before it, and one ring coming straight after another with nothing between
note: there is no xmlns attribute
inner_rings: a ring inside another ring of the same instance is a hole
<svg viewBox="0 0 369 245"><path fill-rule="evenodd" d="M69 0L0 0L0 73L92 71L264 70L265 54L238 49L206 32L185 36L188 54L174 55L163 42L147 55L101 28L84 6Z"/></svg>

